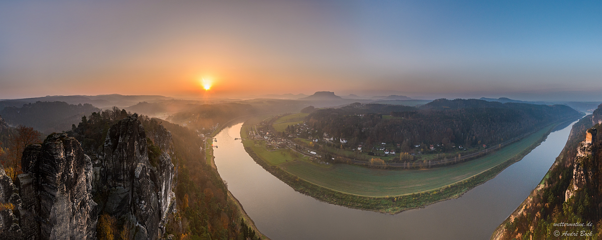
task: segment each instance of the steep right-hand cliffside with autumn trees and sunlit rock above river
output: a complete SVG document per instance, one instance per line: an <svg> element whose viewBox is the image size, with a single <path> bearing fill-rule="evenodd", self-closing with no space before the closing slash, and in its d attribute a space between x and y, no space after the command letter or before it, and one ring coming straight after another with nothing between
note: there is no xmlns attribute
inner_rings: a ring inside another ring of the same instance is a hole
<svg viewBox="0 0 602 240"><path fill-rule="evenodd" d="M492 239L602 239L600 119L602 105L573 125L565 148L541 184L495 230Z"/></svg>

